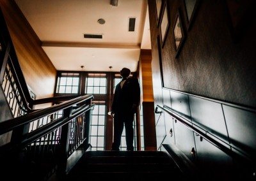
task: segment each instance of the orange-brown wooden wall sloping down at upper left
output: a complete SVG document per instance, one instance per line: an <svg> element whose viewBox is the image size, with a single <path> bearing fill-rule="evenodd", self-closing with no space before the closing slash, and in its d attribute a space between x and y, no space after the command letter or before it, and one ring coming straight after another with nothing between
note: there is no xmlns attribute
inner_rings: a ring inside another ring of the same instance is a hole
<svg viewBox="0 0 256 181"><path fill-rule="evenodd" d="M10 36L27 84L36 98L53 96L56 69L41 47L31 25L13 0L1 0Z"/></svg>

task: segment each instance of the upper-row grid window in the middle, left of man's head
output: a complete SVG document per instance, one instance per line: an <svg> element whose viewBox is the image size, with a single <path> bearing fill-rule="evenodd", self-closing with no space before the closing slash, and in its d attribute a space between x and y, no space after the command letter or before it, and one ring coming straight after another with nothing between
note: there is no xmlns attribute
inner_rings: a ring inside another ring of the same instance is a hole
<svg viewBox="0 0 256 181"><path fill-rule="evenodd" d="M88 73L86 79L87 94L106 94L107 78L106 73Z"/></svg>

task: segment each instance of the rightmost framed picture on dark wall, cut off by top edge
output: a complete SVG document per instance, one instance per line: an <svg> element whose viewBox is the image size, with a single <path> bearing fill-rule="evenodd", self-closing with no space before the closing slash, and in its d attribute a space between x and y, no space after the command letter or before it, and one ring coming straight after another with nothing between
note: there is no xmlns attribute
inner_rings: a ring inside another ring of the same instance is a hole
<svg viewBox="0 0 256 181"><path fill-rule="evenodd" d="M198 9L200 0L184 0L184 8L186 11L186 27L189 30Z"/></svg>

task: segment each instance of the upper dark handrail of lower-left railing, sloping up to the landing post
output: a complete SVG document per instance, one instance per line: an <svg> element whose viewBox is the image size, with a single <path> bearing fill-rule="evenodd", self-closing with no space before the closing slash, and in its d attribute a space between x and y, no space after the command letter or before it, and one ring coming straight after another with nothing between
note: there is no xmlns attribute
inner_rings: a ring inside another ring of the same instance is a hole
<svg viewBox="0 0 256 181"><path fill-rule="evenodd" d="M70 101L65 101L64 103L60 103L59 105L54 105L49 108L44 108L42 110L36 110L35 112L28 113L26 115L22 115L20 117L16 117L14 119L6 120L0 123L0 135L4 133L8 133L12 131L15 127L19 127L29 122L33 122L34 120L40 119L47 115L50 115L54 112L58 112L65 108L69 108L72 105L81 103L83 101L93 99L92 94L86 94L84 96L79 96L78 98L71 99Z"/></svg>

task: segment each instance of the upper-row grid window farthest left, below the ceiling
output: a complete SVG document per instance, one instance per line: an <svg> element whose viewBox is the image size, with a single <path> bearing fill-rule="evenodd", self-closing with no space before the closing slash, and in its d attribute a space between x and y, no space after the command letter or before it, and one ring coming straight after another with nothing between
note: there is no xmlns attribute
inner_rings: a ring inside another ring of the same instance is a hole
<svg viewBox="0 0 256 181"><path fill-rule="evenodd" d="M79 91L79 73L61 73L56 88L56 93L77 94Z"/></svg>

